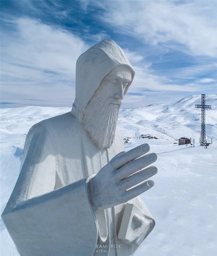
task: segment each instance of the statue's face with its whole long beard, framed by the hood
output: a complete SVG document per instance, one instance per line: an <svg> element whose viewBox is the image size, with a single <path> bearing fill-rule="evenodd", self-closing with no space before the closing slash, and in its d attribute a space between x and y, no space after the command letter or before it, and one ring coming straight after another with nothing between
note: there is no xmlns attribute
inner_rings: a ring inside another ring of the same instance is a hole
<svg viewBox="0 0 217 256"><path fill-rule="evenodd" d="M83 111L83 125L99 149L109 148L114 141L121 100L131 79L128 67L115 67L101 81Z"/></svg>

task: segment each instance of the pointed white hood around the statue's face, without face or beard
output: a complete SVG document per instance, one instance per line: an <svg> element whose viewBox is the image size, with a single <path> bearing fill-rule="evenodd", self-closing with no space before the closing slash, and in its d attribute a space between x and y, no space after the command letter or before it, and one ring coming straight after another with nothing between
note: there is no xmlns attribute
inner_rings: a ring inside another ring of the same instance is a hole
<svg viewBox="0 0 217 256"><path fill-rule="evenodd" d="M113 40L103 40L81 54L76 62L76 89L75 101L71 113L81 122L83 111L94 95L103 78L116 66L125 65L132 71L132 80L135 71L123 50ZM126 86L126 94L130 84Z"/></svg>

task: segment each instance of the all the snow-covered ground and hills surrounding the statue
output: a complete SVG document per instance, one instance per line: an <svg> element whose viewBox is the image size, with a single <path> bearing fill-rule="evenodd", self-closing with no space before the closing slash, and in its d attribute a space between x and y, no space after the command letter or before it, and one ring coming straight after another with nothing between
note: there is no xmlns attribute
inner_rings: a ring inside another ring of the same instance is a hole
<svg viewBox="0 0 217 256"><path fill-rule="evenodd" d="M142 194L156 227L135 256L214 256L217 252L217 95L207 95L207 142L199 146L201 95L174 104L154 104L120 111L119 126L130 137L126 150L148 143L157 153L155 186ZM1 212L19 173L26 134L35 123L69 108L1 109ZM140 138L140 135L158 139ZM195 139L195 147L178 145L179 137ZM18 256L1 220L1 255Z"/></svg>

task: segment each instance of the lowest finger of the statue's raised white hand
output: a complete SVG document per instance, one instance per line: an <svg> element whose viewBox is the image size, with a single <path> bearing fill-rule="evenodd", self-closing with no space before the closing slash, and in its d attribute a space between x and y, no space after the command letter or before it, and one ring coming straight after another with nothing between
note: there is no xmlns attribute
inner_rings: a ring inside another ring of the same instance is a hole
<svg viewBox="0 0 217 256"><path fill-rule="evenodd" d="M139 196L140 194L144 193L145 191L147 191L153 186L154 186L153 180L145 181L144 183L125 191L124 192L125 200L129 201L132 198L135 198L136 196Z"/></svg>

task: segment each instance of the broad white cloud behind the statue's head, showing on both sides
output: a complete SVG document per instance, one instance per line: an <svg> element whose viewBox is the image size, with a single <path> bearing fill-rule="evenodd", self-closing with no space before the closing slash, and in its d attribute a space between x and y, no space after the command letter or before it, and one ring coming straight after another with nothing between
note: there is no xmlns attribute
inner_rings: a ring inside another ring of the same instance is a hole
<svg viewBox="0 0 217 256"><path fill-rule="evenodd" d="M70 106L75 95L75 64L89 47L85 42L59 28L38 20L12 22L16 32L5 33L2 41L2 99L31 105ZM125 102L137 102L147 90L195 91L194 85L176 85L166 77L153 74L138 52L124 49L136 76ZM198 87L197 87L198 89Z"/></svg>

